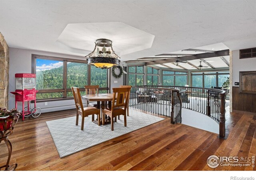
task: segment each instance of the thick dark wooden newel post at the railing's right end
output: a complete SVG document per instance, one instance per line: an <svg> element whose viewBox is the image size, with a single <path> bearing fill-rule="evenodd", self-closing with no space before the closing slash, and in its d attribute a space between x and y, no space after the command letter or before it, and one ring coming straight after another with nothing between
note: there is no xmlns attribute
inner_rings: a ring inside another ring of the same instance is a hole
<svg viewBox="0 0 256 180"><path fill-rule="evenodd" d="M220 93L220 138L225 138L225 92Z"/></svg>

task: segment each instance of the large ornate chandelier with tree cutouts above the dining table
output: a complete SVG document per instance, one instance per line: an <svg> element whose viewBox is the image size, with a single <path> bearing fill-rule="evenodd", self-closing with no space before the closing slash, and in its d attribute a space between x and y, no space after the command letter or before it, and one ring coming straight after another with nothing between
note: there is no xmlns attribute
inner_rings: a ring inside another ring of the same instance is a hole
<svg viewBox="0 0 256 180"><path fill-rule="evenodd" d="M85 57L88 64L102 69L118 66L120 63L120 57L114 52L112 41L108 39L97 39L94 50Z"/></svg>

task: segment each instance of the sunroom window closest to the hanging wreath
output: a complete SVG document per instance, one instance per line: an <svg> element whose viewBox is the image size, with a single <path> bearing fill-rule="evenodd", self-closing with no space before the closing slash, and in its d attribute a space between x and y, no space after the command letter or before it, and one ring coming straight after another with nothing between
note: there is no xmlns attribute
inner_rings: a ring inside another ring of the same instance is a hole
<svg viewBox="0 0 256 180"><path fill-rule="evenodd" d="M128 67L128 85L131 85L131 86L144 85L144 66Z"/></svg>

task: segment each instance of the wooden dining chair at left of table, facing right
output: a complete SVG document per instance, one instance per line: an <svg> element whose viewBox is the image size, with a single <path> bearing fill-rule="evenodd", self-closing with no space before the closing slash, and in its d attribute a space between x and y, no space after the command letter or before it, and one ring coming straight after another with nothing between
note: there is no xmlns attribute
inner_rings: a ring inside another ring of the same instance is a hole
<svg viewBox="0 0 256 180"><path fill-rule="evenodd" d="M76 126L78 125L78 118L79 115L82 116L82 124L81 130L84 130L84 118L92 115L92 121L94 121L94 114L98 115L98 125L100 125L100 109L97 109L92 106L85 107L82 103L82 98L80 94L80 89L76 87L72 87L72 92L75 100L76 105Z"/></svg>

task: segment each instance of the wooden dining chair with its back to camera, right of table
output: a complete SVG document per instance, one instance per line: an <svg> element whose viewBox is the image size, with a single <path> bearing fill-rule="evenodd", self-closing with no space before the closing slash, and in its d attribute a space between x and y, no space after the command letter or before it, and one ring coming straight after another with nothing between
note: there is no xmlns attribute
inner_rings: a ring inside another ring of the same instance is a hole
<svg viewBox="0 0 256 180"><path fill-rule="evenodd" d="M102 121L105 121L105 114L111 118L111 130L114 130L114 117L124 115L124 126L126 126L126 108L128 104L128 95L131 88L113 88L113 104L110 108L103 110ZM115 101L116 100L116 101ZM124 108L122 108L124 107Z"/></svg>

